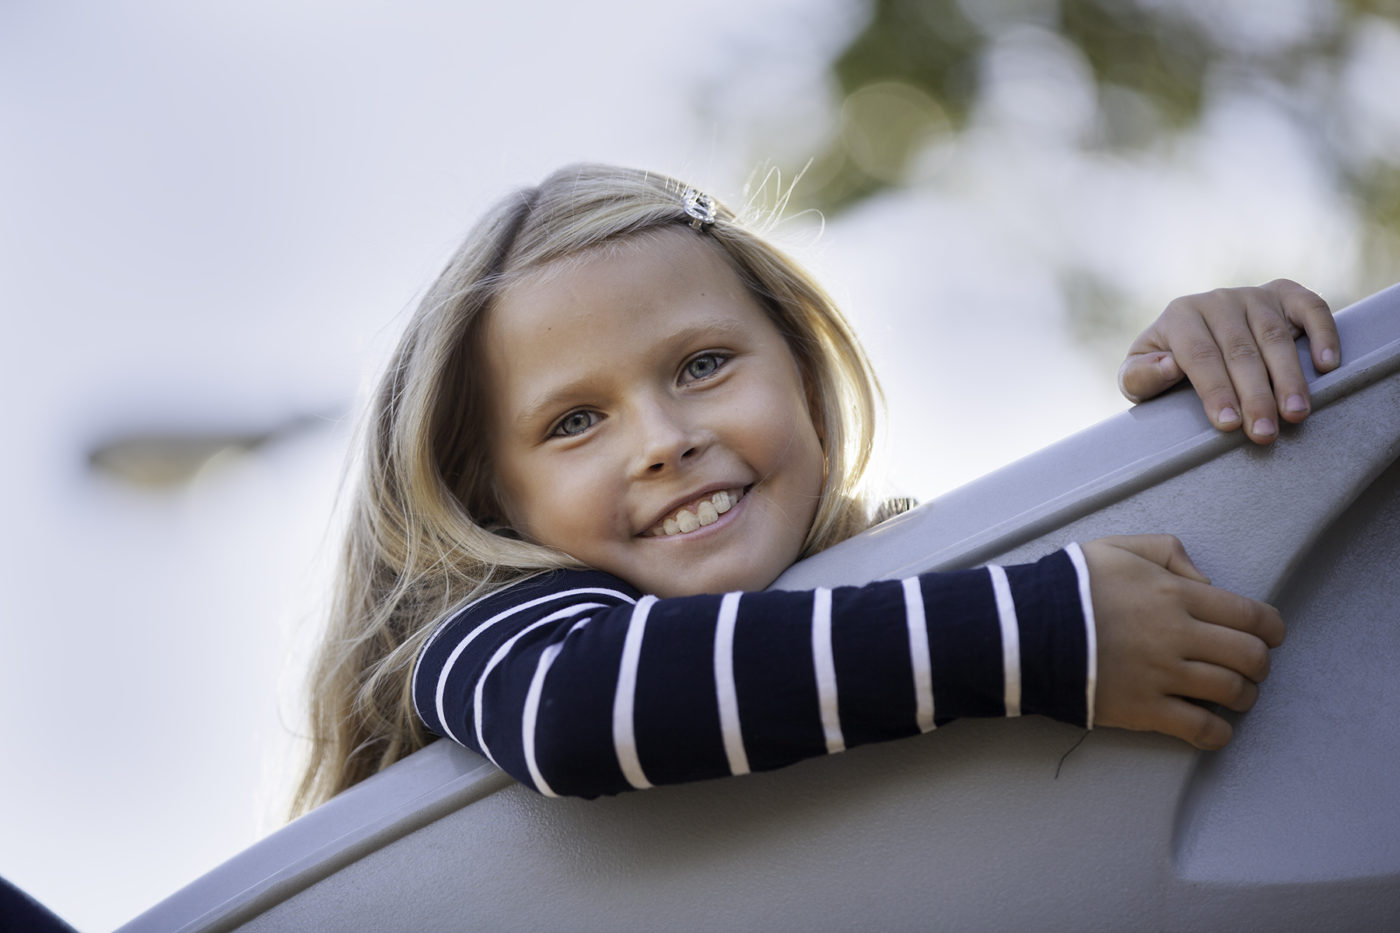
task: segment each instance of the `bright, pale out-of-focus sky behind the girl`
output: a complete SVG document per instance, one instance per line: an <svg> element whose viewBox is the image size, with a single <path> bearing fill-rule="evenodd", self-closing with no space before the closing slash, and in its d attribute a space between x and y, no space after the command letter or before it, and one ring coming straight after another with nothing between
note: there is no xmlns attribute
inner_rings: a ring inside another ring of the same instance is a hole
<svg viewBox="0 0 1400 933"><path fill-rule="evenodd" d="M1280 28L1299 4L1266 6ZM563 163L742 200L766 157L797 156L760 127L816 146L848 15L0 6L0 876L102 930L276 825L351 412L414 296L487 203ZM784 227L885 380L892 488L923 499L1124 408L1114 361L1065 326L1065 251L1151 307L1275 275L1359 297L1348 217L1292 127L1226 102L1175 163L1086 160L1082 67L1035 29L1002 52L973 132L930 154L939 185L820 237ZM1394 95L1375 106L1400 126ZM308 415L176 488L85 466L122 433Z"/></svg>

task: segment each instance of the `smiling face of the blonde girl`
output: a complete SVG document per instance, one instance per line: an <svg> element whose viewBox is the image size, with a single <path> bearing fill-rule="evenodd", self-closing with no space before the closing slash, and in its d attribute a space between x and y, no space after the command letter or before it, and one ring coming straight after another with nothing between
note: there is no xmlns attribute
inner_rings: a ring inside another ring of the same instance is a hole
<svg viewBox="0 0 1400 933"><path fill-rule="evenodd" d="M526 276L483 332L511 525L662 597L771 583L825 472L787 342L701 235Z"/></svg>

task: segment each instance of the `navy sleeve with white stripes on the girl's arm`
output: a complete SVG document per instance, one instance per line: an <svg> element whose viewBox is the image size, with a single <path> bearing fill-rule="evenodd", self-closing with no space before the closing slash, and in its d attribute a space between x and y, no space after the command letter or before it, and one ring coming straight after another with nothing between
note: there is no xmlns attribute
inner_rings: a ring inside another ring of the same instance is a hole
<svg viewBox="0 0 1400 933"><path fill-rule="evenodd" d="M561 570L449 616L419 654L427 727L543 794L781 768L965 716L1092 727L1078 545L862 587L658 600Z"/></svg>

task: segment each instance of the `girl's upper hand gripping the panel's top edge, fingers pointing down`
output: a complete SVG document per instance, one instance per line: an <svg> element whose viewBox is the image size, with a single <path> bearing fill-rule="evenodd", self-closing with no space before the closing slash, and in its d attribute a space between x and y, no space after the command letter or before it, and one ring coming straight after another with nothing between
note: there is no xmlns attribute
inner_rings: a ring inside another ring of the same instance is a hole
<svg viewBox="0 0 1400 933"><path fill-rule="evenodd" d="M1268 444L1278 437L1278 417L1296 423L1310 410L1294 349L1303 333L1317 371L1337 368L1341 345L1331 310L1296 282L1190 294L1166 305L1133 342L1119 389L1141 402L1184 375L1215 427L1232 431L1243 424L1252 441Z"/></svg>

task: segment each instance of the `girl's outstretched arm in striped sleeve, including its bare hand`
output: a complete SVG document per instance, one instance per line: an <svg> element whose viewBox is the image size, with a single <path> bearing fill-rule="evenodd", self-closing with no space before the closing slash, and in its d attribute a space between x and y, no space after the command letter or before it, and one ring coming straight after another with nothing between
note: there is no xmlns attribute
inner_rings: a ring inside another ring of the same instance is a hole
<svg viewBox="0 0 1400 933"><path fill-rule="evenodd" d="M430 730L522 783L592 797L963 716L1040 713L1214 748L1229 726L1180 698L1249 709L1281 637L1277 612L1210 587L1169 537L804 593L657 600L559 572L444 622L413 699Z"/></svg>

